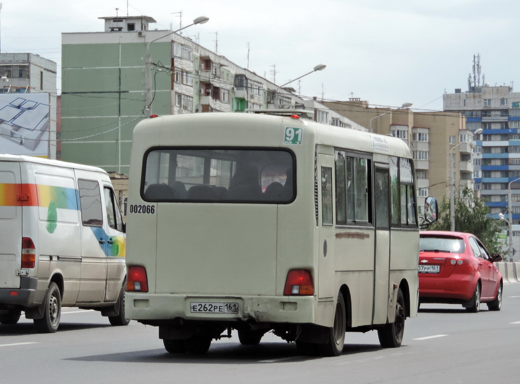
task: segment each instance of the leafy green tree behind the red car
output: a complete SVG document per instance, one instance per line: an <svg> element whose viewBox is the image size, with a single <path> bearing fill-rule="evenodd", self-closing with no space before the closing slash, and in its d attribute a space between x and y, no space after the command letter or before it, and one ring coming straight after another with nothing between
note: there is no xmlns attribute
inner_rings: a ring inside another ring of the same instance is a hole
<svg viewBox="0 0 520 384"><path fill-rule="evenodd" d="M472 190L465 187L461 194L455 194L455 230L457 232L469 232L477 236L491 253L502 253L502 247L498 242L498 234L502 232L502 226L498 220L488 217L488 208L484 201L475 197ZM439 206L439 220L433 223L429 231L449 231L450 202L445 196Z"/></svg>

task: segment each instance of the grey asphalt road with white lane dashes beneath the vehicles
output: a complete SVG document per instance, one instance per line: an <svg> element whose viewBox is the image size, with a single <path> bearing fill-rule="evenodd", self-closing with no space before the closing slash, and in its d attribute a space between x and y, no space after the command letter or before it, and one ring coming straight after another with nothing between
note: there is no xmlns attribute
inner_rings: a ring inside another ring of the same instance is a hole
<svg viewBox="0 0 520 384"><path fill-rule="evenodd" d="M66 308L55 334L25 319L0 325L0 382L520 383L520 284L504 286L501 311L480 308L422 304L401 348L382 349L375 332L348 333L339 357L302 356L271 334L259 346L235 335L204 355L173 355L155 327L113 327L98 312Z"/></svg>

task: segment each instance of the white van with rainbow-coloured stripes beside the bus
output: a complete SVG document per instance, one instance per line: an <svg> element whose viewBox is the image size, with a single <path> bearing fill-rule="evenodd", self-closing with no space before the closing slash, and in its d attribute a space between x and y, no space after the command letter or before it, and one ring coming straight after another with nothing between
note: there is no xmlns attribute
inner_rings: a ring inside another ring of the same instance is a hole
<svg viewBox="0 0 520 384"><path fill-rule="evenodd" d="M106 171L0 155L0 323L55 332L61 307L124 315L125 226Z"/></svg>

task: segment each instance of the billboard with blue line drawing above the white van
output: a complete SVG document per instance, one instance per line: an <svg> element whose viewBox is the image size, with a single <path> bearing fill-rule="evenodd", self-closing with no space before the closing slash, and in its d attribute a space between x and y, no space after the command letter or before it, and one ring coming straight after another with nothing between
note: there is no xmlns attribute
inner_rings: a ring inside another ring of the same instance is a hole
<svg viewBox="0 0 520 384"><path fill-rule="evenodd" d="M0 153L48 157L49 94L0 94Z"/></svg>

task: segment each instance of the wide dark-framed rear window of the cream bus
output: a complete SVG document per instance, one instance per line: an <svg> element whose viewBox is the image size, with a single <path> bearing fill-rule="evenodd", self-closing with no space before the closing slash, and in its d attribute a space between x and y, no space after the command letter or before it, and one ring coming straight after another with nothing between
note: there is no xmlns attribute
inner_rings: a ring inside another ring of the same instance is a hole
<svg viewBox="0 0 520 384"><path fill-rule="evenodd" d="M287 204L294 173L287 150L155 148L145 157L141 195L151 202Z"/></svg>

